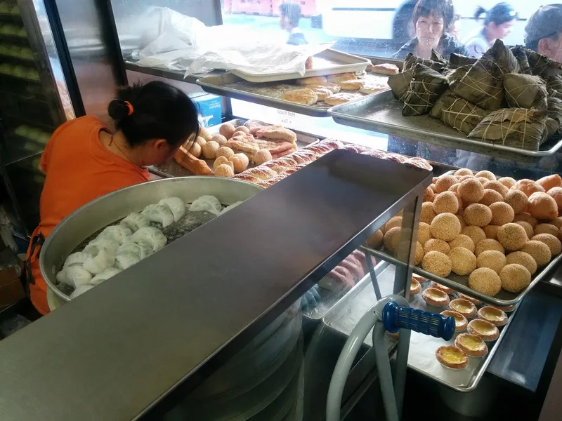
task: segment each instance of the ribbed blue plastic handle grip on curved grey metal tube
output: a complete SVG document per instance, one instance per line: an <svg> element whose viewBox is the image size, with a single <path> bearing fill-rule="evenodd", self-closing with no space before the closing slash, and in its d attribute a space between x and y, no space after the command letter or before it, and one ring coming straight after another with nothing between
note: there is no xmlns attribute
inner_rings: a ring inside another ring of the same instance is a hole
<svg viewBox="0 0 562 421"><path fill-rule="evenodd" d="M455 335L455 318L441 314L424 312L405 305L398 305L396 301L389 301L382 312L384 328L390 333L396 333L400 328L414 330L414 332L431 335L435 338L450 340Z"/></svg>

